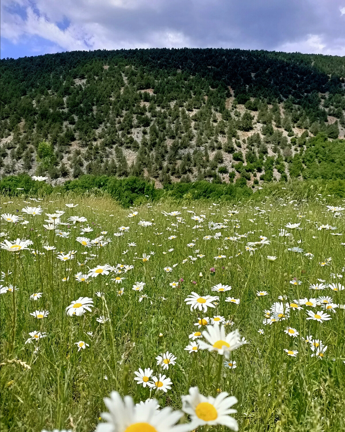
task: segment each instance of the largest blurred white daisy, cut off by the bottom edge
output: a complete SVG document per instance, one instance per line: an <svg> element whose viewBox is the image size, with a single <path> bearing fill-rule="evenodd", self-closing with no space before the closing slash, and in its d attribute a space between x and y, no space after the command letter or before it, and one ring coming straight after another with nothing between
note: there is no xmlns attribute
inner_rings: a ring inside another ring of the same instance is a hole
<svg viewBox="0 0 345 432"><path fill-rule="evenodd" d="M186 430L181 429L181 425L175 426L182 417L180 411L173 412L170 407L158 410L159 405L154 399L135 405L132 397L125 396L122 401L119 393L113 391L110 398L104 398L104 403L110 412L101 413L102 419L106 422L99 423L96 432L182 432Z"/></svg>

